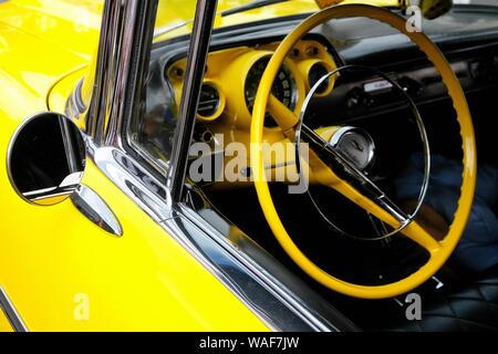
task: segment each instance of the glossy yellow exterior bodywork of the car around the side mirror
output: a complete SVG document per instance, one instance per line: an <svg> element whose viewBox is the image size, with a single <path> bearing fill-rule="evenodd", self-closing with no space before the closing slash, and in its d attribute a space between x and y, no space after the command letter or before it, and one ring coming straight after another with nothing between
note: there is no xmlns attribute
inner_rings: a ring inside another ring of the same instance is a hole
<svg viewBox="0 0 498 354"><path fill-rule="evenodd" d="M169 2L178 10L185 3ZM313 1L290 2L229 21L292 14L298 2L317 10ZM220 9L230 3L220 1ZM13 190L6 169L10 138L34 113L63 112L97 45L101 11L102 1L0 4L0 284L32 331L268 330L92 163L83 183L115 212L121 238L70 200L39 207ZM159 11L158 22L173 20L173 12ZM1 314L0 331L9 327Z"/></svg>

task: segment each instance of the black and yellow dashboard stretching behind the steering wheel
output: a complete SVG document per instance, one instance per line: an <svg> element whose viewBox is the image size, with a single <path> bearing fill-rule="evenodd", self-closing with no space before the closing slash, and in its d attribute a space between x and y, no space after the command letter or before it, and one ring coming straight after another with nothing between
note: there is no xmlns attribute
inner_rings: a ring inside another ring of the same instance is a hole
<svg viewBox="0 0 498 354"><path fill-rule="evenodd" d="M212 34L195 140L216 145L215 135L222 133L231 142L249 143L251 108L259 80L274 49L302 19L302 15L295 15L261 21L219 29ZM424 21L423 28L447 56L466 93L496 85L496 9L456 7L438 21ZM188 37L185 37L155 44L145 125L151 121L156 122L151 126L160 127L141 128L132 138L132 143L137 143L145 155L151 156L151 164L160 173L167 168L172 139L164 137L165 132L173 135L176 125L188 43ZM272 94L299 115L310 87L326 72L344 65L369 66L384 73L405 90L421 110L428 104L447 102L440 76L405 35L380 22L360 18L332 21L303 38L280 69ZM374 74L359 75L341 85L334 85L334 80L330 80L322 86L314 94L307 117L307 124L313 128L395 114L404 106L402 97L393 94L393 87ZM264 137L269 142L282 137L269 113L264 118ZM143 148L144 145L148 146Z"/></svg>

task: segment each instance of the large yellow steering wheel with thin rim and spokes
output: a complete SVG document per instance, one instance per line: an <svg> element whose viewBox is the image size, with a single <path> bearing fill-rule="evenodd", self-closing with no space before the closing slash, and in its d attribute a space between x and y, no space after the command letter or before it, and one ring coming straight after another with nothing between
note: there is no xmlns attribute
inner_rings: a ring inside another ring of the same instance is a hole
<svg viewBox="0 0 498 354"><path fill-rule="evenodd" d="M274 207L266 177L263 162L262 135L266 112L271 112L282 132L289 137L292 136L292 132L300 122L292 112L287 110L287 107L271 94L273 81L286 56L295 43L315 27L333 19L351 17L364 17L390 24L407 35L419 50L427 55L428 60L439 72L443 82L448 90L448 95L453 100L463 140L464 171L460 198L454 221L443 241L437 241L415 220L411 219L406 225L403 225L403 220L396 218L392 210L385 208L385 205L381 206L378 201L374 201L370 197L364 196L351 184L338 177L338 175L334 174L334 171L324 164L314 152L310 152L310 174L312 174L320 184L335 189L352 202L394 229L403 228L401 233L417 242L428 251L428 261L416 272L400 281L383 285L360 285L338 279L313 263L313 261L298 248L283 227ZM253 173L255 186L264 217L271 227L273 235L289 257L305 273L334 291L350 296L364 299L384 299L406 293L424 283L434 275L440 267L443 267L465 230L474 200L477 174L476 142L473 121L465 94L449 63L437 46L424 33L408 32L406 20L388 10L365 4L331 7L311 15L289 33L276 50L261 79L253 106L250 139L250 164Z"/></svg>

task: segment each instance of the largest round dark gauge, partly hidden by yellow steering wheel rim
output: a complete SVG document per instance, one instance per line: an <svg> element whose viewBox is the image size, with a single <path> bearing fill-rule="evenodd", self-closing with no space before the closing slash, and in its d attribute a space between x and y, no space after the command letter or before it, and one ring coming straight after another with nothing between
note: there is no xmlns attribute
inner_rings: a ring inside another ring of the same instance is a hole
<svg viewBox="0 0 498 354"><path fill-rule="evenodd" d="M246 84L245 84L245 95L246 95L246 105L249 112L252 114L252 107L255 105L256 94L259 88L259 83L261 77L267 69L267 65L270 61L270 56L264 56L259 59L249 70ZM291 111L294 111L297 98L298 98L298 90L295 87L295 80L292 75L292 72L286 66L282 65L280 67L277 77L273 82L273 87L271 88L271 93L279 100L286 107ZM277 126L277 123L271 118L271 115L268 113L264 119L266 126Z"/></svg>

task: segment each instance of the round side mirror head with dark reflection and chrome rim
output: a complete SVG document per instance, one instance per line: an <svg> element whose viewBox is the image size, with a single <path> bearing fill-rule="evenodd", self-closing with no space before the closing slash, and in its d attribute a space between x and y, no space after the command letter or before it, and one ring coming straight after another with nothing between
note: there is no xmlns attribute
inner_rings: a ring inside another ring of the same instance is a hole
<svg viewBox="0 0 498 354"><path fill-rule="evenodd" d="M10 140L7 170L27 201L51 206L73 195L85 167L85 144L68 117L45 112L28 118Z"/></svg>

